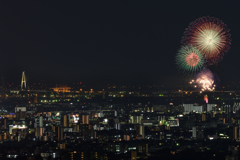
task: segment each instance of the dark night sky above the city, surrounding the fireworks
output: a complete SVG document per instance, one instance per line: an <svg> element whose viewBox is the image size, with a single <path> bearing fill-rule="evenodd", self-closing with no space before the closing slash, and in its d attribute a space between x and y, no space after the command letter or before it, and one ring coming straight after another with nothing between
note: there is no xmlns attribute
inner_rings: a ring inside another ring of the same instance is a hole
<svg viewBox="0 0 240 160"><path fill-rule="evenodd" d="M214 16L232 34L229 53L210 67L240 81L240 1L1 1L0 75L49 84L176 84L175 55L189 23Z"/></svg>

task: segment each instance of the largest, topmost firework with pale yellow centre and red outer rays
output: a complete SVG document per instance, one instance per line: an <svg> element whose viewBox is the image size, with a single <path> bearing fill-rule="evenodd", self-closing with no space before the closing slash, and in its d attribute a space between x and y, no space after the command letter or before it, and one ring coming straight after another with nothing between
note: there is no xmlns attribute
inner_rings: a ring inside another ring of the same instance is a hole
<svg viewBox="0 0 240 160"><path fill-rule="evenodd" d="M201 17L190 23L182 43L193 45L207 60L207 64L216 64L229 50L231 35L226 25L214 17Z"/></svg>

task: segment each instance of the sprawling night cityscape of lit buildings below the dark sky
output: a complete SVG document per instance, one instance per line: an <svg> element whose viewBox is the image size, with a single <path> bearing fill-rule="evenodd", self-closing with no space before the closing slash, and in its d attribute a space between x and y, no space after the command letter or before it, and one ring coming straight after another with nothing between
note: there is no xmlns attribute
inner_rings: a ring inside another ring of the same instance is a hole
<svg viewBox="0 0 240 160"><path fill-rule="evenodd" d="M238 159L238 84L47 88L26 74L16 88L3 79L2 159Z"/></svg>

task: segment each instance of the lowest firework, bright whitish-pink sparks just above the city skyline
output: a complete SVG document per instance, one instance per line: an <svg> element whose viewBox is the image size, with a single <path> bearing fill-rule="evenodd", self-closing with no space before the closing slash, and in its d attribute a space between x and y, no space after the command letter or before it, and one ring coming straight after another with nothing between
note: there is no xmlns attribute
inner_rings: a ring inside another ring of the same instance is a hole
<svg viewBox="0 0 240 160"><path fill-rule="evenodd" d="M195 83L201 91L213 91L216 88L214 74L204 69L196 75Z"/></svg>

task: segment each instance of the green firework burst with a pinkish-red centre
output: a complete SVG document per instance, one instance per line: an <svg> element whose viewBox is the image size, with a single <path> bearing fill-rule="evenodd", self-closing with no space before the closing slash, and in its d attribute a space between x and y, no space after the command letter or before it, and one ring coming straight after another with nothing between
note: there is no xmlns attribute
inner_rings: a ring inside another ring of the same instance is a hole
<svg viewBox="0 0 240 160"><path fill-rule="evenodd" d="M188 73L195 73L202 69L204 58L198 49L192 46L182 46L176 56L176 63L180 69Z"/></svg>

